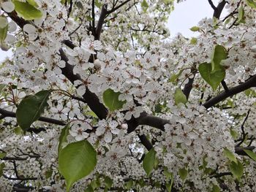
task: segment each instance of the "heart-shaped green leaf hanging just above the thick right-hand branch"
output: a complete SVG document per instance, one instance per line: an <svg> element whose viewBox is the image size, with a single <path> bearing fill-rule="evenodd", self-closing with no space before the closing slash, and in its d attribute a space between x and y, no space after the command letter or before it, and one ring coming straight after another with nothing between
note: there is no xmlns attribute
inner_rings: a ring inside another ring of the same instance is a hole
<svg viewBox="0 0 256 192"><path fill-rule="evenodd" d="M211 72L211 64L208 63L200 64L198 70L200 72L201 77L203 77L203 80L208 82L208 84L211 85L211 88L214 91L217 89L219 83L222 82L226 75L224 69Z"/></svg>

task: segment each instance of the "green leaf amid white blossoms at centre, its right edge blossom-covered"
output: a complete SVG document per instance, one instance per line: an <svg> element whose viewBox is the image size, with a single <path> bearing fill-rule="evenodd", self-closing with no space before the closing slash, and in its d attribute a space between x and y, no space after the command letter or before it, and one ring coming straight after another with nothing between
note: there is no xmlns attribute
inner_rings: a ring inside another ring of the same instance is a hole
<svg viewBox="0 0 256 192"><path fill-rule="evenodd" d="M120 110L126 101L119 101L118 96L120 92L114 92L112 89L108 89L103 93L104 104L108 107L110 111Z"/></svg>

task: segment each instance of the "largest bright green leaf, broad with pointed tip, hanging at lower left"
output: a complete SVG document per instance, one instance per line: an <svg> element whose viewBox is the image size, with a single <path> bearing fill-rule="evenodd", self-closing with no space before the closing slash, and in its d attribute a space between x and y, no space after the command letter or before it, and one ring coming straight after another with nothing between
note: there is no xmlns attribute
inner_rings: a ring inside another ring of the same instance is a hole
<svg viewBox="0 0 256 192"><path fill-rule="evenodd" d="M59 153L59 172L67 182L67 191L72 185L90 174L97 164L97 153L86 141L73 142Z"/></svg>

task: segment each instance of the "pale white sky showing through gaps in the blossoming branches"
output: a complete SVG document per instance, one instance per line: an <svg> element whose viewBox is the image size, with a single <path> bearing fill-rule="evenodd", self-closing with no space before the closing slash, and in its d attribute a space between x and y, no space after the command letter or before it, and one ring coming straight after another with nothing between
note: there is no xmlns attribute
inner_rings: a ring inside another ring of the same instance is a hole
<svg viewBox="0 0 256 192"><path fill-rule="evenodd" d="M217 6L219 0L213 0ZM208 0L187 0L175 5L175 9L170 13L170 18L167 23L170 28L170 35L174 37L175 34L180 32L185 37L193 37L197 34L189 30L192 26L197 26L197 23L202 18L211 18L213 9L208 4ZM223 15L222 15L223 17ZM0 49L0 61L5 57L12 55L12 52L2 51Z"/></svg>

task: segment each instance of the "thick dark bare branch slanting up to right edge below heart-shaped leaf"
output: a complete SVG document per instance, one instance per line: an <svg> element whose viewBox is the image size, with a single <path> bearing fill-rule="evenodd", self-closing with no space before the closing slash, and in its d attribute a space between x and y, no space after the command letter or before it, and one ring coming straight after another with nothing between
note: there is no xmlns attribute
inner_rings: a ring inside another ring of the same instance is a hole
<svg viewBox="0 0 256 192"><path fill-rule="evenodd" d="M246 82L243 82L234 88L230 88L228 92L223 91L218 96L215 96L214 98L206 101L206 103L203 104L203 106L206 107L206 109L208 109L210 107L213 107L215 104L219 103L219 101L227 99L228 97L236 95L237 93L241 93L242 91L246 91L246 89L252 87L256 87L256 74L250 77L249 80L246 80Z"/></svg>

